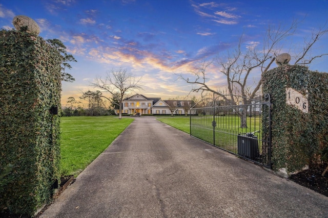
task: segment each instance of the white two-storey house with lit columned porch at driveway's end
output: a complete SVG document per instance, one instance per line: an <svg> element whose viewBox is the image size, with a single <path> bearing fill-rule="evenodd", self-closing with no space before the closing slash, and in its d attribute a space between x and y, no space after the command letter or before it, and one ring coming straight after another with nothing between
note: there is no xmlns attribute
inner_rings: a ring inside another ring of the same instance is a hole
<svg viewBox="0 0 328 218"><path fill-rule="evenodd" d="M135 94L122 102L122 113L132 115L142 114L185 114L189 113L190 101L161 100L148 98L142 94ZM118 113L118 111L116 111Z"/></svg>

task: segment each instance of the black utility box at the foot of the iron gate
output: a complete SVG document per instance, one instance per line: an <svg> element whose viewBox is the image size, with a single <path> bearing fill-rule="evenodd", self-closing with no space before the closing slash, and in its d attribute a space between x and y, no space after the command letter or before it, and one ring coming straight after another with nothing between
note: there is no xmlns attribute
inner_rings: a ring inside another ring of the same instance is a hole
<svg viewBox="0 0 328 218"><path fill-rule="evenodd" d="M238 135L238 155L255 160L259 157L257 137L252 133Z"/></svg>

